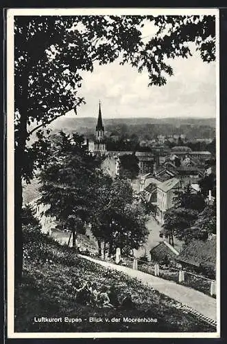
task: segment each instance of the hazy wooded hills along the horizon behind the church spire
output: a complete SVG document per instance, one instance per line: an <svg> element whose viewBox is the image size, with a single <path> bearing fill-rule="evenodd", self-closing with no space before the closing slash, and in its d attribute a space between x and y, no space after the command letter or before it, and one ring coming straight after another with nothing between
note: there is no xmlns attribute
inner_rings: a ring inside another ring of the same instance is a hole
<svg viewBox="0 0 227 344"><path fill-rule="evenodd" d="M122 135L135 133L141 140L146 136L184 133L187 138L213 138L215 118L103 118L106 133ZM51 124L53 133L60 130L78 132L85 136L95 133L96 118L62 117Z"/></svg>

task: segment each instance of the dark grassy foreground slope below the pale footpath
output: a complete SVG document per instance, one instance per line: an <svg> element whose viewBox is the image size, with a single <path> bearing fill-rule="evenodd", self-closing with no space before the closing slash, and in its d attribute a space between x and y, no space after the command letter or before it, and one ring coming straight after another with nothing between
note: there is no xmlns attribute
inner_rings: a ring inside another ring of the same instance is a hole
<svg viewBox="0 0 227 344"><path fill-rule="evenodd" d="M120 272L79 259L72 248L60 246L45 235L25 235L23 281L15 300L16 332L211 332L213 327L185 314L179 303L143 286ZM49 259L51 261L46 261ZM136 310L99 310L75 302L74 283L96 281L98 287L115 286L119 299L132 293ZM158 323L34 323L34 316L153 317Z"/></svg>

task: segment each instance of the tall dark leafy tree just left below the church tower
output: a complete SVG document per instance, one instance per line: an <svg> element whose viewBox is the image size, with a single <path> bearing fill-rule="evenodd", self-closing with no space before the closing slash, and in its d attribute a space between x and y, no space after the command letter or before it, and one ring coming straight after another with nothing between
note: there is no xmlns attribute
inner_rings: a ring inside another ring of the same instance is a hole
<svg viewBox="0 0 227 344"><path fill-rule="evenodd" d="M61 229L81 232L93 200L97 162L87 151L83 136L60 132L40 173L47 214L55 216Z"/></svg>

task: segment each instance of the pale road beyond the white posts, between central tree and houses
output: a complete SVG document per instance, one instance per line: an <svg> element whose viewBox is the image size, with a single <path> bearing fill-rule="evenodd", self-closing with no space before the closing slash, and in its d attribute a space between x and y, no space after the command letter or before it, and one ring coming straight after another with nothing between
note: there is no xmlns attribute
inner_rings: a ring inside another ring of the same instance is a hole
<svg viewBox="0 0 227 344"><path fill-rule="evenodd" d="M147 222L147 228L150 232L147 242L145 243L143 248L140 248L139 250L136 250L135 255L136 257L141 257L141 255L145 254L146 252L149 252L154 246L158 245L160 241L163 241L165 238L159 237L159 232L162 229L160 224L158 224L153 217L150 217L149 221ZM176 250L180 250L182 247L182 242L178 239L174 239L174 247Z"/></svg>

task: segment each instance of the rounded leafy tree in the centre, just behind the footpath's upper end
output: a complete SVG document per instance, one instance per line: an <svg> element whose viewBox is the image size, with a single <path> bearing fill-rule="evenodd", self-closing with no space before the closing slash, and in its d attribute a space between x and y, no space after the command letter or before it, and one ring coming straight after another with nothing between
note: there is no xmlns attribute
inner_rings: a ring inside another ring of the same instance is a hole
<svg viewBox="0 0 227 344"><path fill-rule="evenodd" d="M101 193L91 217L95 237L109 244L110 254L116 247L139 248L147 239L145 213L134 202L132 186L126 180L115 180Z"/></svg>

